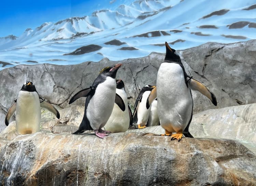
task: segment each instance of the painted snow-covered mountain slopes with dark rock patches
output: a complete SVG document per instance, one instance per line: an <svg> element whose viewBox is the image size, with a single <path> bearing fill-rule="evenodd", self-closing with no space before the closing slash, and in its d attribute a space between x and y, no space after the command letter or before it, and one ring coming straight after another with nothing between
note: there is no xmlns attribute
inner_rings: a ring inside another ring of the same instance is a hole
<svg viewBox="0 0 256 186"><path fill-rule="evenodd" d="M143 57L205 42L256 39L255 0L139 0L0 38L0 69ZM7 64L7 65L6 65ZM9 65L8 65L9 64Z"/></svg>

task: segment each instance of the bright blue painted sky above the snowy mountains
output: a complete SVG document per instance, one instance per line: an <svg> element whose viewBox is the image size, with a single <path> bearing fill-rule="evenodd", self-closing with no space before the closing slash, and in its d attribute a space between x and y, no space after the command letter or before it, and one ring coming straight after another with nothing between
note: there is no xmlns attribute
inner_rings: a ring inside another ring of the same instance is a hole
<svg viewBox="0 0 256 186"><path fill-rule="evenodd" d="M112 3L110 3L112 1ZM0 3L0 37L19 37L27 28L45 22L57 22L73 16L90 15L95 10L114 10L131 0L2 0Z"/></svg>

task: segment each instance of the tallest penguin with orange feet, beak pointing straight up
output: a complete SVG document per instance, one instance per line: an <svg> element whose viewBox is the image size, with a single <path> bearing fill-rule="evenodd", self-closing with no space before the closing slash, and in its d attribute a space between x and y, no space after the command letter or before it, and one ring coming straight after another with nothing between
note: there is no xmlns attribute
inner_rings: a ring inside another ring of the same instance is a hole
<svg viewBox="0 0 256 186"><path fill-rule="evenodd" d="M157 110L160 125L165 129L165 134L171 139L181 140L185 137L193 138L188 128L193 115L193 99L191 90L197 90L216 106L214 94L201 82L187 75L181 58L167 42L165 60L161 63L156 87L148 97L147 108L157 95ZM173 134L173 132L176 132Z"/></svg>

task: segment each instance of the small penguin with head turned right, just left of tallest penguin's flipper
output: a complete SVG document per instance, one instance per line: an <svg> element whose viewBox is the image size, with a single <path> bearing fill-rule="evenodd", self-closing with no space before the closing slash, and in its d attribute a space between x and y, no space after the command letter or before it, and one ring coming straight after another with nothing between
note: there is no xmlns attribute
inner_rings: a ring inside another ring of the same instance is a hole
<svg viewBox="0 0 256 186"><path fill-rule="evenodd" d="M134 104L133 122L137 122L138 128L143 129L147 125L150 115L150 107L146 108L146 101L155 86L146 85L140 91L138 98Z"/></svg>

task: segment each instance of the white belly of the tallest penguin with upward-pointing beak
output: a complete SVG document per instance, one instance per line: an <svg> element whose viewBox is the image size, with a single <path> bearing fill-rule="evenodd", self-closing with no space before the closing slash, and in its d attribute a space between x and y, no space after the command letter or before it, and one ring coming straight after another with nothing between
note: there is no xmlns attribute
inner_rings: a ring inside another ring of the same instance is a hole
<svg viewBox="0 0 256 186"><path fill-rule="evenodd" d="M169 132L182 132L190 120L193 100L181 66L162 63L156 84L160 125Z"/></svg>

